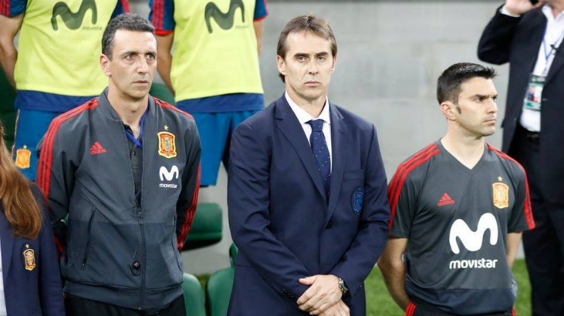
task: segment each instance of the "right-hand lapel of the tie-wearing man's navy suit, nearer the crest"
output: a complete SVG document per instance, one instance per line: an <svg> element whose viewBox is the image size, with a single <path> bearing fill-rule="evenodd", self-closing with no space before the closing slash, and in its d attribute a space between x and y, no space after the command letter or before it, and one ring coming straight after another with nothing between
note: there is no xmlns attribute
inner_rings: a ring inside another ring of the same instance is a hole
<svg viewBox="0 0 564 316"><path fill-rule="evenodd" d="M329 212L327 213L326 222L329 221L340 193L340 186L343 184L343 172L345 168L345 158L347 155L347 126L343 122L343 115L340 114L337 107L329 102L329 115L331 115L331 151L332 151L332 168L331 168L331 188L329 188Z"/></svg>

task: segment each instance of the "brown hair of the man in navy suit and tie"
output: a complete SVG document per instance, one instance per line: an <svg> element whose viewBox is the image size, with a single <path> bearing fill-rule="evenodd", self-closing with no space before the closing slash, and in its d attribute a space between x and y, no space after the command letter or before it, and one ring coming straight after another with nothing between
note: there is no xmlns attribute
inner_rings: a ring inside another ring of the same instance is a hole
<svg viewBox="0 0 564 316"><path fill-rule="evenodd" d="M335 39L335 34L333 33L331 26L329 26L329 22L326 19L318 18L312 14L296 16L286 24L284 30L282 30L280 37L278 38L276 54L282 58L285 58L286 52L288 51L288 47L286 47L286 39L288 38L288 34L303 31L313 32L314 34L331 41L331 54L333 56L337 56L337 41ZM285 82L283 74L278 74L278 76L280 76L282 82Z"/></svg>

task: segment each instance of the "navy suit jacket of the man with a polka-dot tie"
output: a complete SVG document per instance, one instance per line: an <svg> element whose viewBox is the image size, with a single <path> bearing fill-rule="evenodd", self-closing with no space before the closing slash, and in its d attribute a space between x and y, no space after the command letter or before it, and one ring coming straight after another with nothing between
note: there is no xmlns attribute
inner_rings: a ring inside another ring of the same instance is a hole
<svg viewBox="0 0 564 316"><path fill-rule="evenodd" d="M296 301L307 286L299 278L316 274L343 278L351 315L366 313L364 280L388 235L386 175L376 128L329 106L329 201L312 148L284 96L235 128L228 206L240 252L230 315L303 315Z"/></svg>

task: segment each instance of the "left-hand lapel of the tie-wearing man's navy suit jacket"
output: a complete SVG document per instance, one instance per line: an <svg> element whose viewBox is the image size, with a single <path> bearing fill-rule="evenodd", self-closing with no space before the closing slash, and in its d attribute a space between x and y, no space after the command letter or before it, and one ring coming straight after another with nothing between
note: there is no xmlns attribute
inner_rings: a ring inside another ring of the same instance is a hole
<svg viewBox="0 0 564 316"><path fill-rule="evenodd" d="M284 95L276 100L276 126L280 128L280 131L285 135L290 144L298 153L303 166L310 174L310 178L314 181L315 186L323 196L325 202L327 198L325 197L325 189L323 188L323 181L321 181L321 174L319 173L319 168L317 166L317 161L315 161L314 155L312 153L312 147L310 143L305 138L303 133L303 128L298 121L298 118L290 108L290 104L286 101Z"/></svg>

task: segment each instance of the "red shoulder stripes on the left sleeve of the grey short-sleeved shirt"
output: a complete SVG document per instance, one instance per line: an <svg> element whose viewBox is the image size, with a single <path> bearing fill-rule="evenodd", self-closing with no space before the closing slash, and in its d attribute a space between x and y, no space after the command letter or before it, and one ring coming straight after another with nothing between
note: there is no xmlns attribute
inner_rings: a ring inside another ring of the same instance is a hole
<svg viewBox="0 0 564 316"><path fill-rule="evenodd" d="M402 187L404 185L405 179L409 175L409 172L413 171L413 169L417 168L417 166L420 166L422 163L431 159L431 157L437 155L440 152L441 150L437 146L437 144L431 144L429 146L426 146L415 155L413 155L410 159L404 161L404 163L398 166L398 170L395 171L395 174L393 175L388 187L388 200L391 206L389 229L391 229L393 225L393 218L395 216L395 209L398 207L400 192L402 191Z"/></svg>

